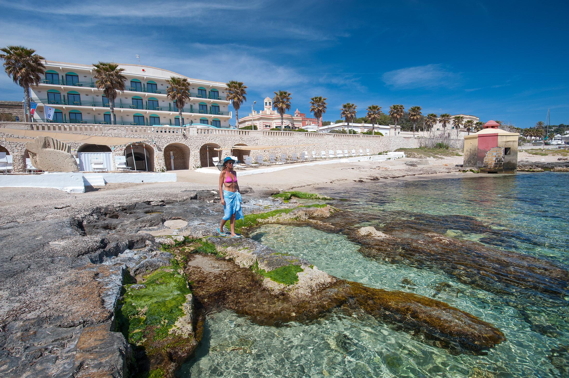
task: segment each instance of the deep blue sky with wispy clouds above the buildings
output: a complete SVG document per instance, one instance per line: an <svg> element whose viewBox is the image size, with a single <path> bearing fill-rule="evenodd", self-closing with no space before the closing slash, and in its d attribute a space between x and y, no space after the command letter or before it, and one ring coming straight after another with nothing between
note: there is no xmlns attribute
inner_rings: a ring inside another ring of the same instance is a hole
<svg viewBox="0 0 569 378"><path fill-rule="evenodd" d="M6 1L0 45L48 60L138 63L193 78L240 80L262 109L328 98L324 120L354 102L419 105L518 127L569 124L567 1ZM0 99L22 90L0 75ZM248 110L249 109L249 110ZM234 123L234 122L232 122Z"/></svg>

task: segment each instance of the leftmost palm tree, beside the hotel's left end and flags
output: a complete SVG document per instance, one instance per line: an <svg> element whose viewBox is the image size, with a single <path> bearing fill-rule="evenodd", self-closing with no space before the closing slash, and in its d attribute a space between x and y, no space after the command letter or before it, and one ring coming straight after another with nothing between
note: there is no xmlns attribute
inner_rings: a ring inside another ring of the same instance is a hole
<svg viewBox="0 0 569 378"><path fill-rule="evenodd" d="M35 53L34 49L23 46L7 46L1 48L0 59L4 60L4 70L16 84L24 89L26 99L27 121L32 121L30 104L30 86L38 85L43 74L46 73L46 66L42 60L45 58Z"/></svg>

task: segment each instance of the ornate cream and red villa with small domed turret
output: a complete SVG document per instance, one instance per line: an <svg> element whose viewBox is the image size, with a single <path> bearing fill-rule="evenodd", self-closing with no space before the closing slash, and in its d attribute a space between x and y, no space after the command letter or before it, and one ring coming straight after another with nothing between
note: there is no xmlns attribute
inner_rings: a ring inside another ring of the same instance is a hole
<svg viewBox="0 0 569 378"><path fill-rule="evenodd" d="M281 127L281 115L278 111L273 110L273 100L270 97L265 97L263 101L264 110L253 110L247 117L239 119L238 126L244 127L253 124L257 126L258 130L269 130L274 127ZM305 113L300 113L298 109L294 115L284 114L284 127L288 128L306 128L307 126L316 127L316 118L306 117ZM320 122L320 126L321 126Z"/></svg>

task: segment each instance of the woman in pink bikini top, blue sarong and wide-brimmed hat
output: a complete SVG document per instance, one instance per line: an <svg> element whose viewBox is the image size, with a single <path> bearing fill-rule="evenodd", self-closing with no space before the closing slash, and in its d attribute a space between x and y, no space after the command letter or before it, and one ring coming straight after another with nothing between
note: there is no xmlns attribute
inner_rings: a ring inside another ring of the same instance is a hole
<svg viewBox="0 0 569 378"><path fill-rule="evenodd" d="M223 230L225 222L229 221L232 238L241 238L241 235L235 233L235 220L243 219L241 211L241 193L239 193L239 185L237 184L237 173L233 171L233 161L231 157L223 160L223 169L219 175L219 195L221 197L221 205L223 205L224 216L221 219L221 225L217 227L217 232L221 236L227 236ZM223 186L225 185L225 188Z"/></svg>

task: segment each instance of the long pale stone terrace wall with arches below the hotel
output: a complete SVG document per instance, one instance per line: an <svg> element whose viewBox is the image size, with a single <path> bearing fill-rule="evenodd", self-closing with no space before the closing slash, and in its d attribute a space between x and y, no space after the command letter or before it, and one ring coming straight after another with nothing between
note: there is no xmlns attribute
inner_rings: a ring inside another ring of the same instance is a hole
<svg viewBox="0 0 569 378"><path fill-rule="evenodd" d="M252 159L258 154L268 157L269 153L281 155L286 153L300 153L302 151L320 151L328 152L330 149L361 149L364 151L369 149L370 153L385 151L394 151L397 148L416 148L419 147L418 139L413 137L402 136L378 136L378 135L362 135L362 134L325 134L314 132L287 132L287 131L262 131L262 130L235 130L235 129L215 129L215 128L197 128L197 127L146 127L146 126L118 126L118 125L100 125L100 124L59 124L59 123L23 123L23 122L0 122L0 146L5 147L13 157L14 172L23 172L26 168L24 153L26 150L25 143L30 142L11 142L3 140L2 136L9 138L23 138L18 135L11 134L7 128L18 128L20 130L36 130L46 132L65 132L71 134L92 135L92 136L111 136L122 138L135 138L144 140L147 148L154 159L154 170L161 171L171 168L170 151L171 144L175 143L176 150L182 151L180 148L187 147L188 151L175 154L182 156L182 159L188 159L188 164L176 163L174 168L185 165L189 169L198 168L202 164L200 161L207 161L211 164L211 156L200 159L200 149L202 155L207 149L202 148L204 145L210 144L213 147L233 147L236 144L245 146L283 146L282 148L270 148L267 150L256 150L250 153L245 151L242 155L250 155ZM69 142L69 146L75 151L83 146L82 142ZM170 146L170 148L168 148ZM185 146L185 147L183 147ZM125 149L129 146L109 146L113 151L113 156L124 156ZM211 151L211 149L210 149ZM165 153L168 155L164 159ZM221 151L220 156L229 156L230 150ZM234 154L236 155L235 151ZM180 159L180 158L178 158ZM114 161L113 161L114 164Z"/></svg>

